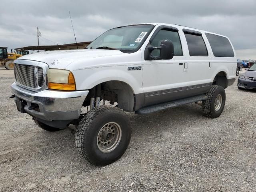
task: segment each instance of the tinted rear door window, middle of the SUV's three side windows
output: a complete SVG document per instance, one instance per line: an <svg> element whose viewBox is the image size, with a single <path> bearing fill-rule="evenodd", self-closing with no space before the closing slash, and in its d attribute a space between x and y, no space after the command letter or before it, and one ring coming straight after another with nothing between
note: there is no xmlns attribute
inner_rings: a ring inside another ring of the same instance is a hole
<svg viewBox="0 0 256 192"><path fill-rule="evenodd" d="M202 35L185 33L190 56L208 56Z"/></svg>

